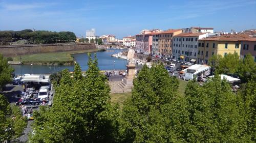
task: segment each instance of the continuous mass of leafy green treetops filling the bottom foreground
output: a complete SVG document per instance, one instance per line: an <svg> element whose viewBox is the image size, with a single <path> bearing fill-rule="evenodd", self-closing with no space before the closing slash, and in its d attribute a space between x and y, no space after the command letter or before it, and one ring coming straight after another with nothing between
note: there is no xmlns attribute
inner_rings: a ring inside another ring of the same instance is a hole
<svg viewBox="0 0 256 143"><path fill-rule="evenodd" d="M78 64L73 76L62 71L53 106L34 113L31 142L255 142L254 79L233 93L216 74L182 96L162 64L143 66L119 110L94 59L84 76Z"/></svg>

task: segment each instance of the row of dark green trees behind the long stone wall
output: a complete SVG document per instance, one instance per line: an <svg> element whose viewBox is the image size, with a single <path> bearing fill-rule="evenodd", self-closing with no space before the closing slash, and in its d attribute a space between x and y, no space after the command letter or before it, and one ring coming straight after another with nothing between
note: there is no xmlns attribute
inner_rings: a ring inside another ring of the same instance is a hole
<svg viewBox="0 0 256 143"><path fill-rule="evenodd" d="M51 32L51 31L0 31L0 44L28 40L31 43L56 43L74 42L76 35L73 32Z"/></svg>

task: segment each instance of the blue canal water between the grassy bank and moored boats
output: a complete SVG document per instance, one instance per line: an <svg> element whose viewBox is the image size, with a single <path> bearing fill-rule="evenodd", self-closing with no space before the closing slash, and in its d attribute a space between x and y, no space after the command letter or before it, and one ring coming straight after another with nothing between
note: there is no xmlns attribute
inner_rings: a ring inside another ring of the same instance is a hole
<svg viewBox="0 0 256 143"><path fill-rule="evenodd" d="M111 54L121 52L123 49L107 49L106 51L92 52L91 56L94 59L94 54L96 53L98 59L98 67L100 70L124 70L126 69L125 65L127 60L117 59L111 56ZM88 55L87 53L78 53L73 54L74 59L82 68L82 71L88 69ZM63 69L69 69L70 71L74 70L74 66L49 66L49 65L12 65L15 70L15 74L20 75L20 73L33 73L33 74L49 74L61 71ZM20 70L21 69L21 70Z"/></svg>

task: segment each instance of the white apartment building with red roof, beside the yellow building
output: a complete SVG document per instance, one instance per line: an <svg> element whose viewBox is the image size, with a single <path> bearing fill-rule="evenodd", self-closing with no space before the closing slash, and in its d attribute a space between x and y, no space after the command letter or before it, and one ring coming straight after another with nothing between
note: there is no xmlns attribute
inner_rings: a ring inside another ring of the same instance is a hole
<svg viewBox="0 0 256 143"><path fill-rule="evenodd" d="M198 40L207 36L207 33L181 33L174 36L172 58L197 63Z"/></svg>

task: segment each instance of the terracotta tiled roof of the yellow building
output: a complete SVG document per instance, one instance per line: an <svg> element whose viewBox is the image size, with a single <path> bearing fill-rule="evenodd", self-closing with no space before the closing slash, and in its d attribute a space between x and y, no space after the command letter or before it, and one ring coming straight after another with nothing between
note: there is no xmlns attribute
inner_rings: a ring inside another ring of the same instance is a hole
<svg viewBox="0 0 256 143"><path fill-rule="evenodd" d="M249 36L245 34L221 35L221 36L214 36L214 37L200 39L200 41L243 41L247 38L249 38Z"/></svg>

